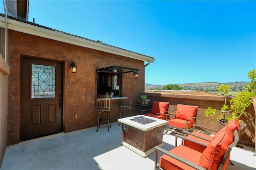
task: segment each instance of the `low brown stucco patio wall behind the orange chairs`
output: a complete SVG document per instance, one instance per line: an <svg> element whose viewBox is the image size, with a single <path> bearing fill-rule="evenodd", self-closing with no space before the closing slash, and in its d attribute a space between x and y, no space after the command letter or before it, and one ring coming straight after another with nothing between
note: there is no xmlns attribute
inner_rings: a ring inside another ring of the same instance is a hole
<svg viewBox="0 0 256 170"><path fill-rule="evenodd" d="M168 113L176 112L177 104L186 104L198 106L196 117L196 124L219 130L218 121L213 122L212 117L206 117L204 112L211 106L217 109L216 117L221 113L220 108L224 104L224 97L222 96L196 96L196 95L178 95L178 94L160 94L160 93L142 93L147 94L148 98L152 101L170 102ZM229 100L228 100L229 101ZM242 142L252 144L255 143L255 111L254 106L246 108L246 114L240 118L247 125Z"/></svg>

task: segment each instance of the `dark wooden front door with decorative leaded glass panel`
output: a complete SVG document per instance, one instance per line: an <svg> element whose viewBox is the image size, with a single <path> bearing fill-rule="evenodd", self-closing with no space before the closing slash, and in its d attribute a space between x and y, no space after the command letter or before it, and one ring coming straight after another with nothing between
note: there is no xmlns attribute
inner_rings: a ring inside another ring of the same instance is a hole
<svg viewBox="0 0 256 170"><path fill-rule="evenodd" d="M63 63L21 57L20 141L63 131Z"/></svg>

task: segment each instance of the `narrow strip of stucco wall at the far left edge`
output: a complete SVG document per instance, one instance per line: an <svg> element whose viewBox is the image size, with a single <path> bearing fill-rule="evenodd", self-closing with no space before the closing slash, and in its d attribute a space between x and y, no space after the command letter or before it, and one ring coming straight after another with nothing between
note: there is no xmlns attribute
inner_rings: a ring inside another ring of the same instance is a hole
<svg viewBox="0 0 256 170"><path fill-rule="evenodd" d="M1 161L4 158L7 141L7 117L8 117L8 75L10 68L0 55L0 139Z"/></svg>

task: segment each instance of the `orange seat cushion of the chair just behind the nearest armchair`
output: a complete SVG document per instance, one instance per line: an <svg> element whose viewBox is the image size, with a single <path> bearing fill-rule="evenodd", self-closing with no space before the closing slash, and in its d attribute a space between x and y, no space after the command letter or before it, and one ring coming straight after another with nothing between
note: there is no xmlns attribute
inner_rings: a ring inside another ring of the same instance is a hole
<svg viewBox="0 0 256 170"><path fill-rule="evenodd" d="M193 131L192 133L195 134L195 135L199 135L201 137L204 137L206 139L209 139L210 141L212 140L212 136L207 135L205 133L201 133L201 132L197 132L197 131ZM208 145L210 143L210 141L206 141L204 139L195 137L193 135L187 135L186 137L189 138L189 139L194 139L195 141L205 143L206 145ZM186 139L184 139L183 145L186 146L186 147L189 147L190 149L197 150L198 152L201 152L201 153L206 149L206 146L200 145L198 143L194 143L192 141L188 141Z"/></svg>

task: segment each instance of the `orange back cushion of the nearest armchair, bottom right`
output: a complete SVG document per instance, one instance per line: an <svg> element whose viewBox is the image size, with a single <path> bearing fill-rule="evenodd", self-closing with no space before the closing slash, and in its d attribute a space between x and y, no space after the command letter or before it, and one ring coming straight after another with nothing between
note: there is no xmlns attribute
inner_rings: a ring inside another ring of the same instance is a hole
<svg viewBox="0 0 256 170"><path fill-rule="evenodd" d="M208 147L202 152L199 165L206 169L218 169L228 146L233 143L233 133L237 128L240 128L239 122L237 119L233 119L217 132ZM227 164L225 163L224 166ZM223 167L223 169L225 168Z"/></svg>

